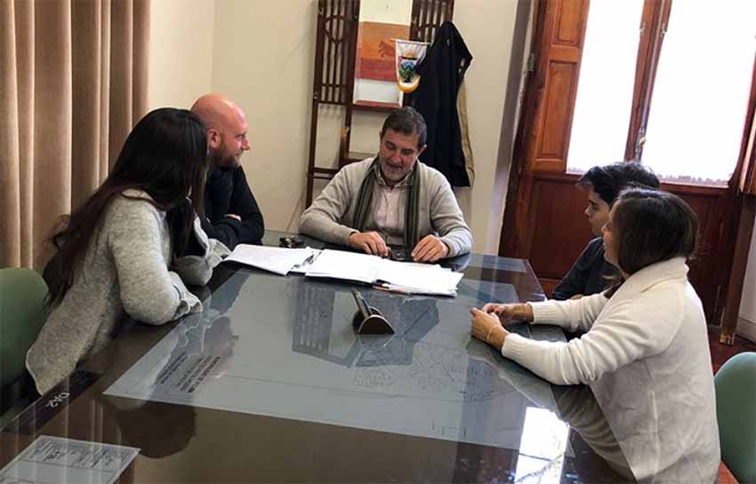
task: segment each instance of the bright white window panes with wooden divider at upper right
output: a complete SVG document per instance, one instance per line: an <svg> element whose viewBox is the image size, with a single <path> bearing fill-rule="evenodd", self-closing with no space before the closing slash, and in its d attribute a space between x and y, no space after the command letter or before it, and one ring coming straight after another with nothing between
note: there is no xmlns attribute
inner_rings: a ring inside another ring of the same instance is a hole
<svg viewBox="0 0 756 484"><path fill-rule="evenodd" d="M756 2L676 1L668 19L664 4L591 3L568 171L639 157L671 181L730 178L751 87ZM643 36L652 42L645 52ZM650 67L646 83L636 82L636 65Z"/></svg>

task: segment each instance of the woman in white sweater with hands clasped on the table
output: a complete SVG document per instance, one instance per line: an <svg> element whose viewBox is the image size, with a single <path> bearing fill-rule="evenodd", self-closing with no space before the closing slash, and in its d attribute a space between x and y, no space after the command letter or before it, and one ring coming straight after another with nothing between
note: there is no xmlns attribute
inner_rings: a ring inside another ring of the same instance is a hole
<svg viewBox="0 0 756 484"><path fill-rule="evenodd" d="M688 282L696 213L661 191L623 192L603 229L621 279L567 301L473 308L472 335L557 385L591 385L639 481L712 483L717 430L712 362L701 300ZM503 328L531 321L587 331L568 343Z"/></svg>

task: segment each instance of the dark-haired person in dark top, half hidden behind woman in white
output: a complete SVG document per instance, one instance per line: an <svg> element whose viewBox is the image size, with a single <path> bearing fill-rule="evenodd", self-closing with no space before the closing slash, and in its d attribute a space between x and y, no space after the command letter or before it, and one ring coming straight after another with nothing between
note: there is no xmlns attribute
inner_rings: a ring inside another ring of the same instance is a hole
<svg viewBox="0 0 756 484"><path fill-rule="evenodd" d="M616 274L614 266L604 260L601 229L607 223L609 210L617 195L628 186L658 188L659 179L653 171L637 162L594 166L577 181L588 192L585 215L596 236L575 261L575 265L551 293L552 299L563 300L590 296L607 289L609 278Z"/></svg>

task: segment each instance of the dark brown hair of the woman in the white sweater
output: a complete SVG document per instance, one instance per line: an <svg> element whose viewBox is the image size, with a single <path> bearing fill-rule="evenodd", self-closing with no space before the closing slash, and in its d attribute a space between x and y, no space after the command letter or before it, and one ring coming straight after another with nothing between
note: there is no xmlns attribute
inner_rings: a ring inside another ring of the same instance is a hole
<svg viewBox="0 0 756 484"><path fill-rule="evenodd" d="M614 210L617 262L625 273L671 258L689 259L696 253L698 218L679 196L631 188L620 194Z"/></svg>

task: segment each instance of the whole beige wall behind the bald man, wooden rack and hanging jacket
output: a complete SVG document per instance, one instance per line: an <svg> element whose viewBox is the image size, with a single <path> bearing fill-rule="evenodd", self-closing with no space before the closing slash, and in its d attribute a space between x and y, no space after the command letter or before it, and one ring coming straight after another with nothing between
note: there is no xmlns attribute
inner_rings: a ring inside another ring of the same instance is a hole
<svg viewBox="0 0 756 484"><path fill-rule="evenodd" d="M187 106L204 91L235 99L250 123L253 147L242 163L266 226L296 229L306 189L317 1L152 4L150 107ZM495 253L501 229L501 217L489 226L489 215L516 8L511 0L454 5L454 23L474 57L465 79L476 179L458 198L479 252ZM321 108L320 120L318 164L327 165L335 162L342 114ZM352 149L374 151L381 123L382 115L356 115Z"/></svg>

